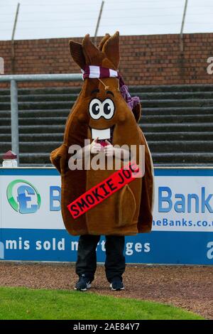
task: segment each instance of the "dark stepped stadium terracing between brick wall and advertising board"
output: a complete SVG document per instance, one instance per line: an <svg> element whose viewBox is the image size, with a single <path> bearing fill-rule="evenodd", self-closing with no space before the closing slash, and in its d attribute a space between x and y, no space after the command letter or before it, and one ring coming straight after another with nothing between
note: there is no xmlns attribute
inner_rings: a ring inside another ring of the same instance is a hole
<svg viewBox="0 0 213 334"><path fill-rule="evenodd" d="M213 165L213 85L129 87L156 166ZM21 166L51 166L80 87L18 89ZM0 89L0 155L11 149L10 90ZM1 159L0 159L1 163Z"/></svg>

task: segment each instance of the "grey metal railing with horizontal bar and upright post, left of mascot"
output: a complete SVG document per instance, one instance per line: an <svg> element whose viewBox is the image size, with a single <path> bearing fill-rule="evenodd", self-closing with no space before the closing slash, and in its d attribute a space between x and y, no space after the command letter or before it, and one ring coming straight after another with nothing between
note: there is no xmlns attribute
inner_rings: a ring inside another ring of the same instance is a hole
<svg viewBox="0 0 213 334"><path fill-rule="evenodd" d="M28 81L82 81L82 75L81 74L0 75L0 82L11 83L11 149L17 155L18 164L19 164L19 137L18 137L17 82L28 82Z"/></svg>

